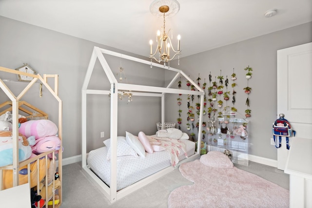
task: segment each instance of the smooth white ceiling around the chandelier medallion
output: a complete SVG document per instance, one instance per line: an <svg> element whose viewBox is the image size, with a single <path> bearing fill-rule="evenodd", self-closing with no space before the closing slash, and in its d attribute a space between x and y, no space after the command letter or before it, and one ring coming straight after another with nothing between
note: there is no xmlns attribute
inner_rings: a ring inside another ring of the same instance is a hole
<svg viewBox="0 0 312 208"><path fill-rule="evenodd" d="M0 0L0 16L148 57L163 19L153 0ZM178 0L166 18L181 35L180 57L312 21L312 0ZM269 9L277 14L265 18ZM3 31L1 31L3 32ZM174 43L174 45L175 45Z"/></svg>

